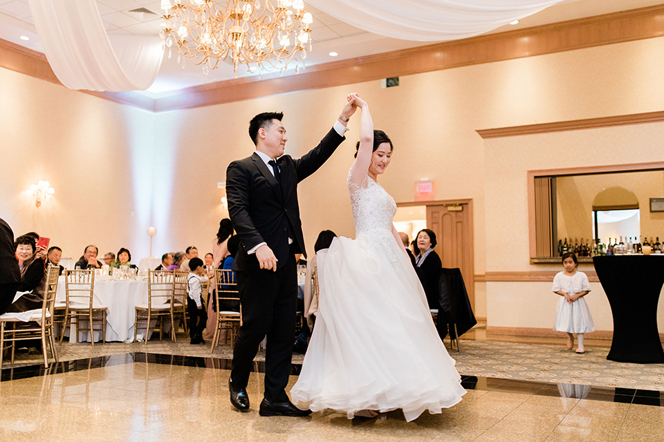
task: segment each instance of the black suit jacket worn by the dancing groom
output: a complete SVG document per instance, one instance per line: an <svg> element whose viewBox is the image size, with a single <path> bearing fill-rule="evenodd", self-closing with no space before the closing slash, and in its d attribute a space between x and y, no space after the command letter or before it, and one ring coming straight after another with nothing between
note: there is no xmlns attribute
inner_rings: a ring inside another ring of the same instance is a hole
<svg viewBox="0 0 664 442"><path fill-rule="evenodd" d="M343 140L345 137L331 129L320 144L302 158L294 160L290 155L279 157L277 165L281 188L256 153L230 163L226 170L228 213L233 228L241 238L233 270L260 269L256 254L249 255L247 252L261 242L266 242L275 253L277 267L284 266L291 251L289 235L293 236L292 253L302 253L306 257L297 204L297 184L317 171Z"/></svg>

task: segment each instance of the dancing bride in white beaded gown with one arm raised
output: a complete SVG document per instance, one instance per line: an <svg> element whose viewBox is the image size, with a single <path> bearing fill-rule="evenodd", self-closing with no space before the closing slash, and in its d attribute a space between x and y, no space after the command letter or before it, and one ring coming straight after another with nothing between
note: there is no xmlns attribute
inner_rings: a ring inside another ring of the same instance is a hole
<svg viewBox="0 0 664 442"><path fill-rule="evenodd" d="M362 110L360 142L348 175L356 240L334 238L317 253L318 316L299 379L297 407L375 416L403 410L407 421L440 413L465 390L431 318L422 285L392 218L396 204L376 180L392 142Z"/></svg>

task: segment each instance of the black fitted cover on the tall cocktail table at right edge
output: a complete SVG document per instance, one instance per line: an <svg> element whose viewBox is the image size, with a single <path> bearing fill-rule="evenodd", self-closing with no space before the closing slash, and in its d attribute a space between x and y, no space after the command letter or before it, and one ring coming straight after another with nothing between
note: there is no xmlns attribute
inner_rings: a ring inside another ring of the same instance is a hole
<svg viewBox="0 0 664 442"><path fill-rule="evenodd" d="M657 328L664 256L596 256L593 263L614 317L614 338L607 359L664 363Z"/></svg>

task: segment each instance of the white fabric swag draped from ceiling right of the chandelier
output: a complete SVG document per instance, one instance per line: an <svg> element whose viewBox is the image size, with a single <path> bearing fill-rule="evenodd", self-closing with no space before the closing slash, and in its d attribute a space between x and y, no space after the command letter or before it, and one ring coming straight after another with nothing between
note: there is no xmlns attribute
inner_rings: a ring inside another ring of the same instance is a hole
<svg viewBox="0 0 664 442"><path fill-rule="evenodd" d="M374 34L402 40L444 41L483 34L560 1L307 0L306 3Z"/></svg>

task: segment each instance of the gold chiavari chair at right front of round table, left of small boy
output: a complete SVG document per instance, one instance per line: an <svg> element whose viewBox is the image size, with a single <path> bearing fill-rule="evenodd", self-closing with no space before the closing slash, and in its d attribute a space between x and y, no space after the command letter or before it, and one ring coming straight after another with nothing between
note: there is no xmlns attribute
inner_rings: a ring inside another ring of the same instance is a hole
<svg viewBox="0 0 664 442"><path fill-rule="evenodd" d="M145 324L145 344L150 336L151 320L156 320L159 327L159 340L162 340L164 333L164 319L171 325L171 338L176 340L174 317L174 271L150 270L147 275L147 304L136 306L136 319L133 323L133 340L136 342L139 325ZM156 331L155 324L154 331Z"/></svg>

